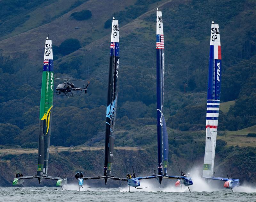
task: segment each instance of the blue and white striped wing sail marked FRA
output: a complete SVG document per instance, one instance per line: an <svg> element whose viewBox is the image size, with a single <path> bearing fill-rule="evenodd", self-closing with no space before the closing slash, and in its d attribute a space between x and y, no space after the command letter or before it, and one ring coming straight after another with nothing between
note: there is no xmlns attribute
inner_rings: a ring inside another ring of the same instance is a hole
<svg viewBox="0 0 256 202"><path fill-rule="evenodd" d="M221 49L219 24L212 21L203 177L214 177L214 157L220 109Z"/></svg>

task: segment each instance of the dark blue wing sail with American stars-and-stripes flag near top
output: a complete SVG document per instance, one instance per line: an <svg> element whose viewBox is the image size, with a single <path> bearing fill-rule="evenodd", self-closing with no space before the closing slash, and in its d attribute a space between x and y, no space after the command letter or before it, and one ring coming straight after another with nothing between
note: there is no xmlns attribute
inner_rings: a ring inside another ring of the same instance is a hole
<svg viewBox="0 0 256 202"><path fill-rule="evenodd" d="M162 12L156 10L156 97L157 97L157 152L158 152L158 175L167 172L168 163L168 135L163 115L164 105L164 30ZM163 151L164 145L164 151ZM159 178L161 184L162 178Z"/></svg>

